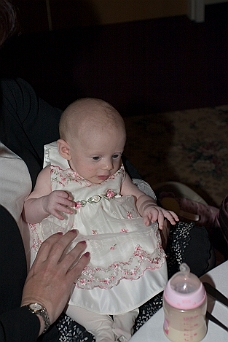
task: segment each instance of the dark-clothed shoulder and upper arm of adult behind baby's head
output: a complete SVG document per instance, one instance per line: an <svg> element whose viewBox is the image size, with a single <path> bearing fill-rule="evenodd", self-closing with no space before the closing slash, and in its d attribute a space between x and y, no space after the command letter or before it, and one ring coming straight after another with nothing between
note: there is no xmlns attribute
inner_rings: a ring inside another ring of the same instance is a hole
<svg viewBox="0 0 228 342"><path fill-rule="evenodd" d="M60 115L26 81L1 80L0 139L25 161L33 185L43 166L44 145L59 138Z"/></svg>

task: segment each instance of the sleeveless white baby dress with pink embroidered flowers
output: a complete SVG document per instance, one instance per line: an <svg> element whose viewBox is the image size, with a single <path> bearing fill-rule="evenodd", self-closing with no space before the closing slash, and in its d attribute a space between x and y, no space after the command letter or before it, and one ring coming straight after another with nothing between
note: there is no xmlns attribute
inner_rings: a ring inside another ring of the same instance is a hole
<svg viewBox="0 0 228 342"><path fill-rule="evenodd" d="M32 259L48 236L72 228L80 232L75 243L86 241L91 254L69 304L114 315L133 310L161 292L167 268L158 225L145 226L133 196L120 195L124 167L103 183L92 184L70 169L56 143L45 146L44 160L44 166L51 165L52 190L72 194L75 214L65 215L63 221L49 216L30 225Z"/></svg>

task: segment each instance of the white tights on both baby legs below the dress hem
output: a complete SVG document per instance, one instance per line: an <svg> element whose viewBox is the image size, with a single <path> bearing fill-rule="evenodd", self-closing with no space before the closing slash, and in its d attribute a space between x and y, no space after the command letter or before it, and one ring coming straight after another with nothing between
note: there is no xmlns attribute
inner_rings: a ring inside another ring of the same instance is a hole
<svg viewBox="0 0 228 342"><path fill-rule="evenodd" d="M69 305L66 314L91 332L96 342L128 341L132 336L132 328L139 310L122 315L102 315L92 311Z"/></svg>

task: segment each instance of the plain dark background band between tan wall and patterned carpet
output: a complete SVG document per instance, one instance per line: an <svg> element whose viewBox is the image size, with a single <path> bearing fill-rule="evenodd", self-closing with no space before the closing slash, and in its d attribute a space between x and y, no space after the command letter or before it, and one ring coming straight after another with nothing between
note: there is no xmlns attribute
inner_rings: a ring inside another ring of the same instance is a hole
<svg viewBox="0 0 228 342"><path fill-rule="evenodd" d="M123 116L228 104L228 3L187 16L23 32L0 51L2 75L22 77L54 106L102 98Z"/></svg>

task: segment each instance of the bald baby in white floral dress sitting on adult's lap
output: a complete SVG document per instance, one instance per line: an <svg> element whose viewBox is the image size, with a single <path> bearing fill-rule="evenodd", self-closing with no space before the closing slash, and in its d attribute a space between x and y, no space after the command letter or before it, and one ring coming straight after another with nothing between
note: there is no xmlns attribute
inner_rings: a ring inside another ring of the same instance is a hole
<svg viewBox="0 0 228 342"><path fill-rule="evenodd" d="M24 204L32 258L58 230L79 229L91 260L75 283L66 313L97 342L128 341L138 307L164 289L165 253L158 230L175 213L159 207L125 172L122 117L85 98L62 114L60 139L45 146L47 166ZM112 316L112 317L111 317Z"/></svg>

